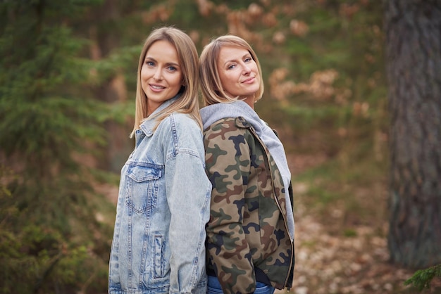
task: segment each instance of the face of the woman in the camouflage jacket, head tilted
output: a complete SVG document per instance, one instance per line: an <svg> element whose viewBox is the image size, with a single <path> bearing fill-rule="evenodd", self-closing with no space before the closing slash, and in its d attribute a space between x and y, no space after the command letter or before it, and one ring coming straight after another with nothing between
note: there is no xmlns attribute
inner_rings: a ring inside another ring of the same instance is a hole
<svg viewBox="0 0 441 294"><path fill-rule="evenodd" d="M261 77L256 62L247 49L224 46L218 56L219 77L223 90L230 96L246 98L254 103L254 94L259 91Z"/></svg>

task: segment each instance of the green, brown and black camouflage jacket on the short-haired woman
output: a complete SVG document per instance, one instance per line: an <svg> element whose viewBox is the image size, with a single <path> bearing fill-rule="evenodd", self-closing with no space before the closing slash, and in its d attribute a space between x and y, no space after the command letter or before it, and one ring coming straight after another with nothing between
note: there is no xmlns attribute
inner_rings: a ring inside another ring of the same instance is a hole
<svg viewBox="0 0 441 294"><path fill-rule="evenodd" d="M254 269L272 286L292 285L294 244L286 225L278 168L251 124L225 118L204 132L206 172L213 185L207 224L208 268L224 293L253 293Z"/></svg>

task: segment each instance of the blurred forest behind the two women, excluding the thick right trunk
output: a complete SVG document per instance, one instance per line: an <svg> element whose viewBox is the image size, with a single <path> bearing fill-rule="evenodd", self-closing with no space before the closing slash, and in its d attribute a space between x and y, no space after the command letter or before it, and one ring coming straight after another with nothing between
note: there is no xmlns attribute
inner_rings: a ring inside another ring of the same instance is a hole
<svg viewBox="0 0 441 294"><path fill-rule="evenodd" d="M0 293L106 293L137 59L161 25L259 56L256 111L293 174L292 293L415 293L387 247L383 18L376 0L1 0Z"/></svg>

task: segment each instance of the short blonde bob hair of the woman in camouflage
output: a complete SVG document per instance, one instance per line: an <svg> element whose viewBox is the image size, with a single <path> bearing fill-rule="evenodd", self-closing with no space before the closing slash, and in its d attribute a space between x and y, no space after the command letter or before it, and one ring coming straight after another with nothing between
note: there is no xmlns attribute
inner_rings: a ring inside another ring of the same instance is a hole
<svg viewBox="0 0 441 294"><path fill-rule="evenodd" d="M217 60L223 46L238 47L247 50L251 54L251 58L256 62L261 77L259 91L256 92L255 96L255 101L258 101L263 95L263 77L259 59L247 41L235 35L228 34L213 39L204 47L199 57L199 77L201 79L201 91L205 106L216 103L228 103L237 101L238 99L238 97L228 96L222 87Z"/></svg>

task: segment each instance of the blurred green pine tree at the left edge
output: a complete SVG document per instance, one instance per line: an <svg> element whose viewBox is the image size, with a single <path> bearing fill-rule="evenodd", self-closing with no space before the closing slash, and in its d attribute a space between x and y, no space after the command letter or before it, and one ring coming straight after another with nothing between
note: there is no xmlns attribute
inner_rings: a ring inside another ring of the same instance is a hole
<svg viewBox="0 0 441 294"><path fill-rule="evenodd" d="M105 289L99 234L111 228L92 204L99 171L81 158L97 156L111 112L92 96L94 64L69 27L95 3L0 4L1 293Z"/></svg>

